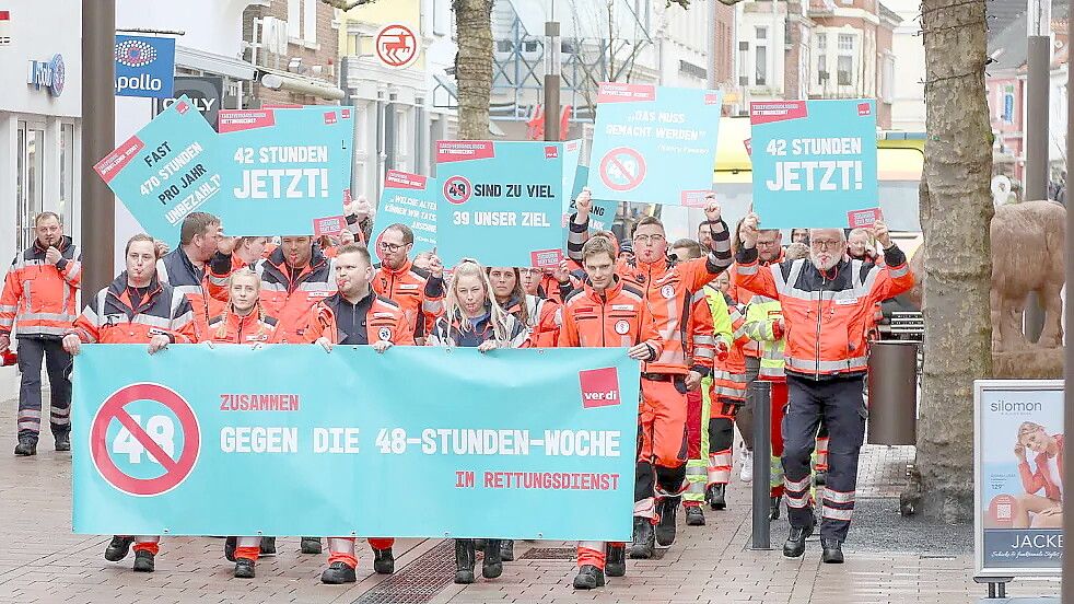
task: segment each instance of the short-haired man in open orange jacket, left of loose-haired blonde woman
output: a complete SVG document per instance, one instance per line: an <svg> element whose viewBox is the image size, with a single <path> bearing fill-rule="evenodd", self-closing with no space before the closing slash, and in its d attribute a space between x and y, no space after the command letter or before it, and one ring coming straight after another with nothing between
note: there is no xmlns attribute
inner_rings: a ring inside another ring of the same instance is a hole
<svg viewBox="0 0 1074 604"><path fill-rule="evenodd" d="M413 330L402 309L392 300L376 294L370 287L373 264L369 249L361 244L339 248L335 262L338 293L323 300L314 309L314 318L306 335L331 352L336 345L370 345L384 352L393 345L413 345ZM380 574L395 572L392 546L395 539L371 537L373 570ZM329 584L353 583L358 557L354 537L328 537L328 568L320 580Z"/></svg>

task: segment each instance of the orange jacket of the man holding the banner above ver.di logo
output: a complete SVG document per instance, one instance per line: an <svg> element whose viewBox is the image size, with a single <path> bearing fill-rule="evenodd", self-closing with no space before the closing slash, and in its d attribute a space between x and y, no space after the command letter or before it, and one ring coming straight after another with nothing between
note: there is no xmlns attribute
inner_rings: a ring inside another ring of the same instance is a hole
<svg viewBox="0 0 1074 604"><path fill-rule="evenodd" d="M586 281L563 301L563 328L559 347L631 347L645 342L650 358L659 357L664 340L653 315L645 311L642 293L616 277L616 283L598 293Z"/></svg>

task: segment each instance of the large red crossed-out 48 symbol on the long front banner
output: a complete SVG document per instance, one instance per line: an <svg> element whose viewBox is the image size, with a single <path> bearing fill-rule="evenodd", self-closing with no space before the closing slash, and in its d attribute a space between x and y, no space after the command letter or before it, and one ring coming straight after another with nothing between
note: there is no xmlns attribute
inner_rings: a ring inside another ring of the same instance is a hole
<svg viewBox="0 0 1074 604"><path fill-rule="evenodd" d="M183 442L178 457L168 454L127 411L127 405L136 400L152 400L175 414L179 426L173 434L173 442L179 440L178 435L182 435ZM113 420L118 421L137 444L144 448L163 467L162 475L154 478L138 478L116 465L112 457L116 452L108 443L108 426ZM154 497L177 487L190 475L198 461L200 449L201 434L190 405L175 391L160 384L140 383L119 388L104 402L90 427L90 454L97 472L112 486L138 497Z"/></svg>

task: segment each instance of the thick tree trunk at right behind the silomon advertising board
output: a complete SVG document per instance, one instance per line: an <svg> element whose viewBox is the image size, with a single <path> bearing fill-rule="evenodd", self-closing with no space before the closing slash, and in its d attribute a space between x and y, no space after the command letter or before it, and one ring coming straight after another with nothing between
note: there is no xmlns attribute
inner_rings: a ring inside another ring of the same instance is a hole
<svg viewBox="0 0 1074 604"><path fill-rule="evenodd" d="M985 0L923 0L926 131L924 370L913 507L973 513L973 380L992 372L989 223L992 128L984 89ZM906 501L904 501L906 503Z"/></svg>

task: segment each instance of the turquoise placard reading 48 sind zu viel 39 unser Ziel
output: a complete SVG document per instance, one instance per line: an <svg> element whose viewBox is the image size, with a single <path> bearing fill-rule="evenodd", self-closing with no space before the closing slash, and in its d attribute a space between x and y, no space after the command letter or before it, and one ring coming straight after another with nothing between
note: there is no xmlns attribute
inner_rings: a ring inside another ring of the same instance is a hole
<svg viewBox="0 0 1074 604"><path fill-rule="evenodd" d="M486 266L558 266L564 183L577 167L577 153L564 148L572 144L439 141L436 176L447 204L436 217L436 251L445 266L464 257Z"/></svg>

